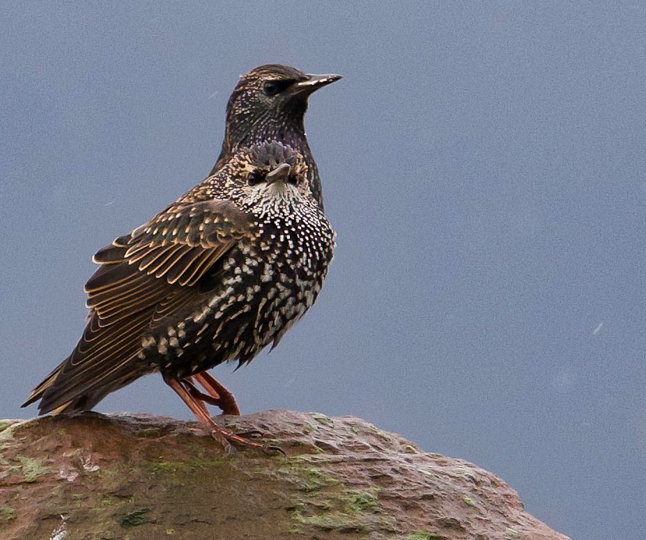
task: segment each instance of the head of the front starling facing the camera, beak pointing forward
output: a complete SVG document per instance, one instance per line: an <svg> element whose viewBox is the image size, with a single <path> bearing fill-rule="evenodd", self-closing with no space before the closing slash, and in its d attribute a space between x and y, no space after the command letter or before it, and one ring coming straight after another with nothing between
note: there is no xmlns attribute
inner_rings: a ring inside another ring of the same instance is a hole
<svg viewBox="0 0 646 540"><path fill-rule="evenodd" d="M307 170L300 152L272 141L239 148L214 179L225 179L226 196L238 206L272 214L316 207Z"/></svg>

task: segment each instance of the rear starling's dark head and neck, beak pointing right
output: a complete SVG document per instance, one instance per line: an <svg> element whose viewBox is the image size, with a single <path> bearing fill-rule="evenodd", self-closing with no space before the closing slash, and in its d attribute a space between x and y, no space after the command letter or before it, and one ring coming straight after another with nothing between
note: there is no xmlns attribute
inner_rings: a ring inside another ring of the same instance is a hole
<svg viewBox="0 0 646 540"><path fill-rule="evenodd" d="M303 117L309 95L339 79L341 75L306 74L280 64L261 65L240 77L226 106L222 152L211 174L240 146L279 141L305 156L309 189L323 208L321 178L307 144Z"/></svg>

